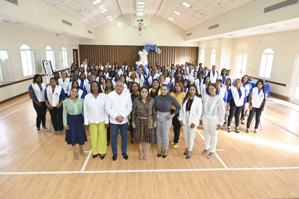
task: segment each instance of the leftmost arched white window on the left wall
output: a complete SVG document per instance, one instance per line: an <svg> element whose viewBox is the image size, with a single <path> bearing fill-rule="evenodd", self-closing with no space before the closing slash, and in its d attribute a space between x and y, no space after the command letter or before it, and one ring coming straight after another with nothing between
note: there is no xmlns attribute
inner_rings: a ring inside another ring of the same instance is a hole
<svg viewBox="0 0 299 199"><path fill-rule="evenodd" d="M23 69L23 76L27 77L33 75L33 66L32 66L32 57L31 57L31 49L28 45L23 44L20 47L21 53L21 62Z"/></svg>

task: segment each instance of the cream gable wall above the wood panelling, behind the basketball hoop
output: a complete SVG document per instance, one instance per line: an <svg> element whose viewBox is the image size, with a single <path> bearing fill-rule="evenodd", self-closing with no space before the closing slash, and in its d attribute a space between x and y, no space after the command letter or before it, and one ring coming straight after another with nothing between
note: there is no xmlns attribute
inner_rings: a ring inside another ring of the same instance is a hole
<svg viewBox="0 0 299 199"><path fill-rule="evenodd" d="M135 17L134 20L148 17ZM93 39L80 39L79 44L87 45L145 45L158 46L198 46L198 42L185 41L185 30L169 23L160 16L150 15L150 22L145 24L148 29L142 29L142 36L138 29L133 29L131 14L120 15L94 28Z"/></svg>

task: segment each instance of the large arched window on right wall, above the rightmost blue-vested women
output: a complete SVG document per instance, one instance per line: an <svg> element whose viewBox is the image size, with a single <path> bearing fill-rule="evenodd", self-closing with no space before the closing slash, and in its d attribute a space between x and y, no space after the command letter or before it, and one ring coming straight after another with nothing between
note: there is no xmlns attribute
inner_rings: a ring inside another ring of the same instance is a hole
<svg viewBox="0 0 299 199"><path fill-rule="evenodd" d="M273 65L274 51L267 48L262 53L259 77L270 78Z"/></svg>

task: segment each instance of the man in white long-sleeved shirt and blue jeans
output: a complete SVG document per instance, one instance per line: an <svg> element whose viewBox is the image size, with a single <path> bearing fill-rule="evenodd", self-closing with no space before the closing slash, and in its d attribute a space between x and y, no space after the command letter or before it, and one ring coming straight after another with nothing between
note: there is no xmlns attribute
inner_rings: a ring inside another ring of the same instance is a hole
<svg viewBox="0 0 299 199"><path fill-rule="evenodd" d="M107 95L105 110L110 115L111 143L112 143L112 160L117 159L117 137L120 130L122 137L122 155L128 160L127 155L127 131L128 115L132 112L131 96L123 92L124 82L117 81L115 90Z"/></svg>

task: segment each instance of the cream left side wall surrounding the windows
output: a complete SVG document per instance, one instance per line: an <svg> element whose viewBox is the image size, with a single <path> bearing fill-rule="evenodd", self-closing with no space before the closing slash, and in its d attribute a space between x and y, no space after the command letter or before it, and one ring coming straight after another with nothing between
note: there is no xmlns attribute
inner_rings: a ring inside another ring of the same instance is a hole
<svg viewBox="0 0 299 199"><path fill-rule="evenodd" d="M33 77L23 77L20 57L20 46L22 44L27 44L31 50L41 50L42 60L46 59L46 46L49 45L53 50L60 51L62 47L66 47L68 67L73 63L73 49L79 49L79 42L76 38L61 35L57 37L52 33L4 23L0 23L0 30L0 50L11 50L15 81ZM43 77L43 80L46 82L45 77ZM0 85L6 83L11 82L0 83ZM0 88L0 101L28 91L28 87L31 83L32 80L28 80Z"/></svg>

